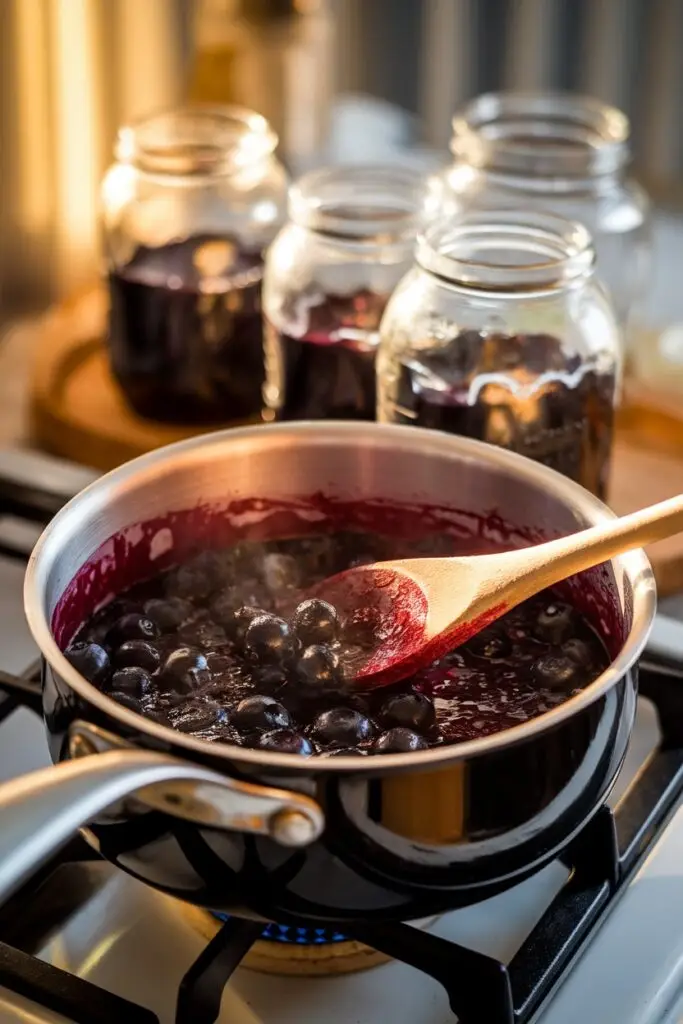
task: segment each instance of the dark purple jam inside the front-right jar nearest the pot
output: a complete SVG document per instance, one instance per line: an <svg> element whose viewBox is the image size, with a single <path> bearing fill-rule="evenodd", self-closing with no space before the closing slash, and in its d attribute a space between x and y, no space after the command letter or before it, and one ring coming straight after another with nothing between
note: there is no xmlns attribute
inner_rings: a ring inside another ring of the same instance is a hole
<svg viewBox="0 0 683 1024"><path fill-rule="evenodd" d="M382 418L510 449L604 498L615 379L566 356L550 335L463 331L445 347L398 360Z"/></svg>

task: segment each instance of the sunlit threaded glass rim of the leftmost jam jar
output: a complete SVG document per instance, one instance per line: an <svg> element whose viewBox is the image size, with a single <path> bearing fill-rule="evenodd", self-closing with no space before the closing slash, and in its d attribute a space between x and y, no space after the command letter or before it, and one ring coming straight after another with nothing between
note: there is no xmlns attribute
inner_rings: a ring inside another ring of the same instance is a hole
<svg viewBox="0 0 683 1024"><path fill-rule="evenodd" d="M245 106L184 104L119 129L115 155L150 174L198 177L233 174L269 157L278 135Z"/></svg>

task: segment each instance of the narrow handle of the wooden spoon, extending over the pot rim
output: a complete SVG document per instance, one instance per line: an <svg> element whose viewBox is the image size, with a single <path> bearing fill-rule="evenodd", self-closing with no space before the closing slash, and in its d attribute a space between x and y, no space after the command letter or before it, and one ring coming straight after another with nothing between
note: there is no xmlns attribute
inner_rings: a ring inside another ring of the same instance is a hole
<svg viewBox="0 0 683 1024"><path fill-rule="evenodd" d="M590 529L519 551L520 564L530 573L527 596L574 572L606 562L624 551L641 548L683 531L683 495L631 512Z"/></svg>

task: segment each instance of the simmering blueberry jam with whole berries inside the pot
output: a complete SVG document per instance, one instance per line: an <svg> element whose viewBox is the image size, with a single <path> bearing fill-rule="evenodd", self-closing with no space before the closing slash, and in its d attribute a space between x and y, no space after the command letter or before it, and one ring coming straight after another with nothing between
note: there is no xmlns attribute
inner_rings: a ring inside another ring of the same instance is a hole
<svg viewBox="0 0 683 1024"><path fill-rule="evenodd" d="M443 554L442 537L431 549ZM358 692L358 638L306 590L359 560L429 542L338 532L201 552L100 608L67 656L126 708L180 732L263 751L382 755L484 736L549 711L608 664L545 592L399 684Z"/></svg>

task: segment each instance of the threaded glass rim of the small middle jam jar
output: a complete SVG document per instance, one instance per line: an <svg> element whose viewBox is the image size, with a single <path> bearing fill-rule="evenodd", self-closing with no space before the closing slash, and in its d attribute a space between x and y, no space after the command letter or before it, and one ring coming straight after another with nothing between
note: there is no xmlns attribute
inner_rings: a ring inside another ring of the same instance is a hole
<svg viewBox="0 0 683 1024"><path fill-rule="evenodd" d="M408 167L352 164L309 171L289 193L294 223L349 242L381 245L415 239L425 181Z"/></svg>

